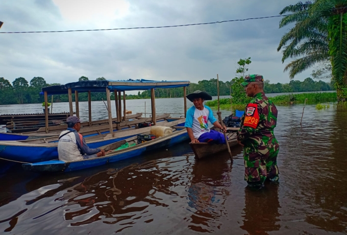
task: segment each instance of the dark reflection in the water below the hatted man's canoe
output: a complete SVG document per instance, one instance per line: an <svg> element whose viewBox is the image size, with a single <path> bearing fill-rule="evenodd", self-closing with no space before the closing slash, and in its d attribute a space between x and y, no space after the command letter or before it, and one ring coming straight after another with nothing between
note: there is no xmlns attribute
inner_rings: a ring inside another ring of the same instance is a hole
<svg viewBox="0 0 347 235"><path fill-rule="evenodd" d="M197 232L216 232L219 218L227 215L225 202L230 195L231 164L218 156L196 161L188 190L188 210L193 214L188 227Z"/></svg>

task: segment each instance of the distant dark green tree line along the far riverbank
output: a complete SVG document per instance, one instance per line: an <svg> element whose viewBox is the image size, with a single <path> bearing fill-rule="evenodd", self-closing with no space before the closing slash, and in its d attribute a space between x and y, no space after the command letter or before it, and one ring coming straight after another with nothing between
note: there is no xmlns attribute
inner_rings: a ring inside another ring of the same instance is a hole
<svg viewBox="0 0 347 235"><path fill-rule="evenodd" d="M88 81L89 79L85 76L79 78L79 81ZM106 80L104 77L97 78L96 80ZM230 87L236 89L238 86L234 84L235 81L219 81L219 95L229 96ZM34 77L28 82L25 78L16 78L12 84L2 77L0 77L0 105L6 104L32 104L44 102L44 97L39 95L42 87L50 85L59 85L59 83L48 84L42 77ZM235 86L236 85L236 86ZM217 96L217 79L211 78L210 80L202 80L197 83L190 83L186 88L187 95L195 90L203 90L210 93L211 96ZM277 83L270 84L269 80L265 80L264 91L266 93L278 93L278 92L298 92L298 91L327 91L333 90L333 86L330 83L323 81L314 81L311 78L306 78L303 82L301 81L290 81L289 83ZM179 88L157 88L155 89L156 98L178 98L183 97L183 87ZM149 99L151 98L151 91L144 90L138 92L137 95L127 95L126 99ZM72 94L72 99L75 100L75 95ZM92 92L92 101L106 100L105 92ZM111 99L114 99L114 94L111 92ZM121 99L123 97L121 96ZM48 96L48 101L51 101L51 96ZM54 102L68 102L67 95L54 95ZM79 101L88 101L88 93L79 93Z"/></svg>

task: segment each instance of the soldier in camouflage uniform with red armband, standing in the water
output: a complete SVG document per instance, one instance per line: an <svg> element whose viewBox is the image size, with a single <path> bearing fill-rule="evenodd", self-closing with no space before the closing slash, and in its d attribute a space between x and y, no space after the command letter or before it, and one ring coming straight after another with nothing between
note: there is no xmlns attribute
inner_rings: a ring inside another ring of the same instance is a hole
<svg viewBox="0 0 347 235"><path fill-rule="evenodd" d="M246 95L253 97L241 117L237 140L243 146L244 180L250 186L262 187L265 179L278 181L277 155L280 146L274 135L277 108L263 91L261 75L250 75L241 83Z"/></svg>

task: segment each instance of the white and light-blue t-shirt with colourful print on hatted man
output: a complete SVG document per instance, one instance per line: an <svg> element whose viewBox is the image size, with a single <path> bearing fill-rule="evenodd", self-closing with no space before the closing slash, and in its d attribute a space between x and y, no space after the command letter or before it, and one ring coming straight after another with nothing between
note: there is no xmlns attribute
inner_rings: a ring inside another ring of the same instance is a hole
<svg viewBox="0 0 347 235"><path fill-rule="evenodd" d="M207 121L213 124L217 121L210 107L204 105L203 110L199 110L192 106L187 111L185 127L190 127L193 130L194 138L198 139L200 135L210 132Z"/></svg>

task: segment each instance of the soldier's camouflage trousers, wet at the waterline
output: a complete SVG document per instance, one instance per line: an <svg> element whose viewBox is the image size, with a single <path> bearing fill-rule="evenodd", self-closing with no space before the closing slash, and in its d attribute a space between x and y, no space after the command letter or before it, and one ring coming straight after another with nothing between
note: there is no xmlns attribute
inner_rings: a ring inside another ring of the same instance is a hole
<svg viewBox="0 0 347 235"><path fill-rule="evenodd" d="M250 186L262 186L266 179L278 181L277 155L274 152L266 159L247 161L244 160L244 180Z"/></svg>

